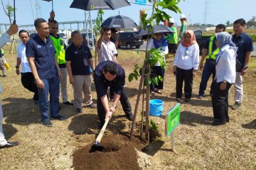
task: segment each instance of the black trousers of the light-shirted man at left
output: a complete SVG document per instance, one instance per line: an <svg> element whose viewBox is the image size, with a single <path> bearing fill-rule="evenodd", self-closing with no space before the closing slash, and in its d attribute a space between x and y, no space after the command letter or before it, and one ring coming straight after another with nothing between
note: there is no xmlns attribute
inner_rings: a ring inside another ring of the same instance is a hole
<svg viewBox="0 0 256 170"><path fill-rule="evenodd" d="M31 72L21 73L21 84L29 91L35 93L33 95L33 100L38 101L38 90L35 79Z"/></svg>

